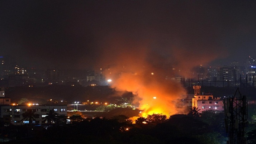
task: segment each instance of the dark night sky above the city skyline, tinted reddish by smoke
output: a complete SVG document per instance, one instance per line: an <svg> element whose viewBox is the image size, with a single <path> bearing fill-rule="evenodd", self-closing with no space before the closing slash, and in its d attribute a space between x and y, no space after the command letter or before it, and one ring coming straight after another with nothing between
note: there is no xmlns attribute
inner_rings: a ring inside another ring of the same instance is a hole
<svg viewBox="0 0 256 144"><path fill-rule="evenodd" d="M255 46L256 1L0 0L0 56L22 66L223 66Z"/></svg>

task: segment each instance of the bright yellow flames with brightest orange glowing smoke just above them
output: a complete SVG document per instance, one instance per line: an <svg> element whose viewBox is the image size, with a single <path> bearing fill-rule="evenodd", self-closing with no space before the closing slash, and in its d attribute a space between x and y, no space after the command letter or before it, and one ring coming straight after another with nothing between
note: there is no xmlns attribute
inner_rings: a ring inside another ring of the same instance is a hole
<svg viewBox="0 0 256 144"><path fill-rule="evenodd" d="M152 114L166 116L176 114L176 101L185 94L180 82L175 79L161 79L161 73L154 72L121 72L113 73L108 69L107 76L112 77L112 87L133 92L136 98L133 103L139 103L141 116ZM115 77L114 77L115 75Z"/></svg>

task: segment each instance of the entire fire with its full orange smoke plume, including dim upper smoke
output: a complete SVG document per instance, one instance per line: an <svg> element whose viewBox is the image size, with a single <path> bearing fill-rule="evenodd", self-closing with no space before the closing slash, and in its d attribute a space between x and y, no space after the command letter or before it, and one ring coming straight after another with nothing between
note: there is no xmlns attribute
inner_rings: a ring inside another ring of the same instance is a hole
<svg viewBox="0 0 256 144"><path fill-rule="evenodd" d="M98 67L106 66L104 76L117 91L133 92L141 116L176 114L177 100L186 94L177 76L188 76L194 66L207 62L208 55L194 57L194 50L161 45L150 40L122 37L116 33L105 39ZM179 45L182 46L182 45ZM213 55L213 54L212 54Z"/></svg>

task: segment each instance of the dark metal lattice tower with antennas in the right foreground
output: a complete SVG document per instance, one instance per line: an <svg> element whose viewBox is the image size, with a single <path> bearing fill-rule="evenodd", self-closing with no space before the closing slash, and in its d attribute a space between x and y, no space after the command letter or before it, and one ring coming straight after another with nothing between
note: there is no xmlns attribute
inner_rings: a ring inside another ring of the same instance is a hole
<svg viewBox="0 0 256 144"><path fill-rule="evenodd" d="M239 96L236 96L237 92L239 92ZM224 111L226 132L228 134L227 144L247 144L247 100L246 96L241 96L238 88L233 97L224 99Z"/></svg>

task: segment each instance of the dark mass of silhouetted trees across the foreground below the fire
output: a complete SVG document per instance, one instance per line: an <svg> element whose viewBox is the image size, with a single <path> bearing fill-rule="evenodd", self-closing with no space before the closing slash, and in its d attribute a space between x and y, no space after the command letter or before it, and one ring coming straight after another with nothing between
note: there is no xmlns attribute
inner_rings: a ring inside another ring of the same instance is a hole
<svg viewBox="0 0 256 144"><path fill-rule="evenodd" d="M203 118L211 117L209 119ZM12 143L42 144L222 144L226 135L222 132L222 113L203 113L193 115L152 114L147 118L139 117L135 124L125 115L111 119L84 119L73 116L70 124L9 126L5 134L13 135Z"/></svg>

